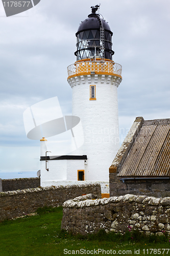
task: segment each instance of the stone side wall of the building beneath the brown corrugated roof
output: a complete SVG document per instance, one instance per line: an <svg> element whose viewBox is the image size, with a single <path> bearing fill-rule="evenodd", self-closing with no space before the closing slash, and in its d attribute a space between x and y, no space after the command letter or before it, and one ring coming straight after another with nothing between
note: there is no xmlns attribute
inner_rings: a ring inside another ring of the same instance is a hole
<svg viewBox="0 0 170 256"><path fill-rule="evenodd" d="M170 180L148 179L121 181L116 173L109 174L110 197L126 194L149 197L170 197Z"/></svg>

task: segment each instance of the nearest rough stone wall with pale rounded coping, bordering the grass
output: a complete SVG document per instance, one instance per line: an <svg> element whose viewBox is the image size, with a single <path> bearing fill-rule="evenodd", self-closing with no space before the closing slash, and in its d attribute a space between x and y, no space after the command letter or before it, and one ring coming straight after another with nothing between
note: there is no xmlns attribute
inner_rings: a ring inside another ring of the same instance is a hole
<svg viewBox="0 0 170 256"><path fill-rule="evenodd" d="M129 227L145 234L170 234L170 197L92 198L93 195L87 195L64 202L61 228L83 235L100 229L124 233Z"/></svg>

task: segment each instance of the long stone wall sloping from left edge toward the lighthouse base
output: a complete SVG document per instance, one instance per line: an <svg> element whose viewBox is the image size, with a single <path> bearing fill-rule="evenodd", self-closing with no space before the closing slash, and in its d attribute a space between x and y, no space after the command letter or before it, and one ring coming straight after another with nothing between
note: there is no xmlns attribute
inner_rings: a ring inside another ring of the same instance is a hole
<svg viewBox="0 0 170 256"><path fill-rule="evenodd" d="M38 207L61 206L66 200L93 193L101 198L100 184L51 186L0 193L0 220L31 214Z"/></svg>

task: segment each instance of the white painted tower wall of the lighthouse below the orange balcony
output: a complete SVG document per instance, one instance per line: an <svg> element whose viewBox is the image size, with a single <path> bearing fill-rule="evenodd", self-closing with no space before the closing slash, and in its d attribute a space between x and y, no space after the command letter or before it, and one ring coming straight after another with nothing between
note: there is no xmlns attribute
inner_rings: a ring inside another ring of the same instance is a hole
<svg viewBox="0 0 170 256"><path fill-rule="evenodd" d="M71 155L87 155L88 181L109 180L109 166L119 148L117 86L121 80L109 75L68 79L72 87L72 115L81 118L85 139L83 146ZM90 85L95 85L96 100L89 100Z"/></svg>

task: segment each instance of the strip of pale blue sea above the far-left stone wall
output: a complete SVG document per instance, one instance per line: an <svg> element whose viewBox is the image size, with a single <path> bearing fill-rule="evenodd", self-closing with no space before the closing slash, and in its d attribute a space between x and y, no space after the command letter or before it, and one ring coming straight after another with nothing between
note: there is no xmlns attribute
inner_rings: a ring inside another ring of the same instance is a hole
<svg viewBox="0 0 170 256"><path fill-rule="evenodd" d="M35 178L38 170L0 170L0 179Z"/></svg>

